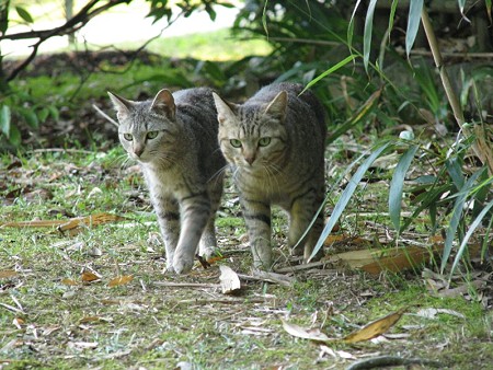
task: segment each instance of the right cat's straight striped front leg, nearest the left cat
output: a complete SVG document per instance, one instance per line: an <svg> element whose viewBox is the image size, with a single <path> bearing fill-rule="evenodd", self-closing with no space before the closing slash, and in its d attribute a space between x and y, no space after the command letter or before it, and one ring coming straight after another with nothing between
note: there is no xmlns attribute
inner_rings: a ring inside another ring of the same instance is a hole
<svg viewBox="0 0 493 370"><path fill-rule="evenodd" d="M271 205L248 197L243 198L241 204L253 255L253 267L270 270L273 264L271 247Z"/></svg>

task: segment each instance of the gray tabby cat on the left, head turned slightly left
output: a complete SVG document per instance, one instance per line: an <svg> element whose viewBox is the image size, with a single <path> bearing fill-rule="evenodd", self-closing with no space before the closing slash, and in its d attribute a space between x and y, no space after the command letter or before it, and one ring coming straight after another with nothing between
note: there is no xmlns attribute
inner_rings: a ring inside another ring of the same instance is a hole
<svg viewBox="0 0 493 370"><path fill-rule="evenodd" d="M218 147L211 90L161 90L144 102L108 94L119 141L139 162L149 187L168 269L187 273L198 244L206 258L216 248L214 219L226 161Z"/></svg>

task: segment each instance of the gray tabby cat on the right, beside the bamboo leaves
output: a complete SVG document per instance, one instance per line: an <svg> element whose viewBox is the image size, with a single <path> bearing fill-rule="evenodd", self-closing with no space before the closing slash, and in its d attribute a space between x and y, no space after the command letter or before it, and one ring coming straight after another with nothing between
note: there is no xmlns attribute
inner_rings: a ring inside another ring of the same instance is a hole
<svg viewBox="0 0 493 370"><path fill-rule="evenodd" d="M324 111L312 93L299 95L302 89L294 83L271 84L241 105L214 93L219 144L240 192L256 268L270 269L273 264L271 205L288 212L293 248L324 199ZM322 229L320 212L293 253L307 261Z"/></svg>

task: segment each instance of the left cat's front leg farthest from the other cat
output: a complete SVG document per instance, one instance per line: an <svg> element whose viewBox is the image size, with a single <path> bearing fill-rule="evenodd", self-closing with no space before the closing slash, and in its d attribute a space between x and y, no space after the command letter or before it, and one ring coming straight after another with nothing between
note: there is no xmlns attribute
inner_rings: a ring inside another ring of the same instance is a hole
<svg viewBox="0 0 493 370"><path fill-rule="evenodd" d="M173 257L180 236L180 207L174 198L154 196L154 211L164 241L167 269L173 271Z"/></svg>

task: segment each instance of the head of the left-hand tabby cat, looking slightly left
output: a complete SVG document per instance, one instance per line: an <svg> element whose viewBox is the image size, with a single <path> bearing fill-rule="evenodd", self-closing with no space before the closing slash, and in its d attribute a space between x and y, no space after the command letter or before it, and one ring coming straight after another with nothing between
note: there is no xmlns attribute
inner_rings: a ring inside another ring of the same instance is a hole
<svg viewBox="0 0 493 370"><path fill-rule="evenodd" d="M118 118L118 137L128 155L139 162L171 160L176 139L176 107L168 90L152 101L134 102L108 92Z"/></svg>

